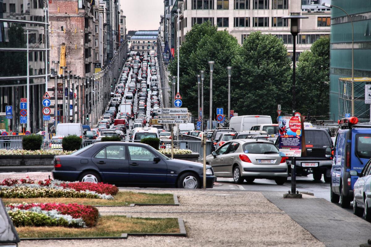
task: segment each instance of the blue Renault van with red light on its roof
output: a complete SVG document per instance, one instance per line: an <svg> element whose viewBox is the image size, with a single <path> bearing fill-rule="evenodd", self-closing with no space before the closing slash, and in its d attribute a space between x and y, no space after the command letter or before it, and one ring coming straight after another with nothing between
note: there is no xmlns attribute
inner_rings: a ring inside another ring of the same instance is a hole
<svg viewBox="0 0 371 247"><path fill-rule="evenodd" d="M340 200L342 208L349 208L353 201L353 186L358 179L349 171L361 173L371 158L371 125L358 124L357 117L350 117L339 120L339 126L331 168L331 202Z"/></svg>

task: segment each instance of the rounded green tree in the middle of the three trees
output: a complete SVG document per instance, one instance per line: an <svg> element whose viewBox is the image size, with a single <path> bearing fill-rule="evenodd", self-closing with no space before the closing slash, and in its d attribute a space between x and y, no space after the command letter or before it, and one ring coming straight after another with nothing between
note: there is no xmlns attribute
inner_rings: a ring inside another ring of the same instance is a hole
<svg viewBox="0 0 371 247"><path fill-rule="evenodd" d="M253 32L244 40L232 71L232 109L239 115L277 117L277 104L291 112L292 69L282 40Z"/></svg>

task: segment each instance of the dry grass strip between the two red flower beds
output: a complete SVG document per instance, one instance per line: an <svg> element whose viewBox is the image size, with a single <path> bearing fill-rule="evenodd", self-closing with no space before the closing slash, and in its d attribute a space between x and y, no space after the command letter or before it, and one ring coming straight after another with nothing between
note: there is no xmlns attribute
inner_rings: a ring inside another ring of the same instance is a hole
<svg viewBox="0 0 371 247"><path fill-rule="evenodd" d="M173 194L150 194L135 193L132 191L119 191L114 200L92 199L92 198L2 198L4 204L10 203L78 203L92 206L129 206L137 204L174 204Z"/></svg>

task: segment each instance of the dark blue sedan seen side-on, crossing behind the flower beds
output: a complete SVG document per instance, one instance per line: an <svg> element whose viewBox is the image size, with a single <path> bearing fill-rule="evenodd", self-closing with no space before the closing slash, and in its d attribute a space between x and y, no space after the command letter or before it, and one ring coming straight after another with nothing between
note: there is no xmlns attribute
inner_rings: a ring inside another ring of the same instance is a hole
<svg viewBox="0 0 371 247"><path fill-rule="evenodd" d="M53 177L62 181L200 188L203 165L171 160L147 144L102 142L86 146L70 155L56 156ZM207 166L206 187L212 188L214 181L214 172L211 166Z"/></svg>

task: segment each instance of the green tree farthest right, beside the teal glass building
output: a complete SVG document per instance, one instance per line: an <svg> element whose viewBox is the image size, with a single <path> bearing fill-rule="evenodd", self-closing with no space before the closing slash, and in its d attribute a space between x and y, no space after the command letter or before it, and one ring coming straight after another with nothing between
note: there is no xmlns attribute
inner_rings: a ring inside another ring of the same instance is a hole
<svg viewBox="0 0 371 247"><path fill-rule="evenodd" d="M329 109L330 40L316 40L304 51L296 70L296 110L324 119Z"/></svg>

